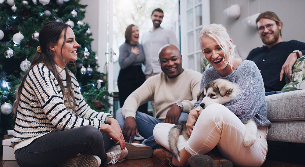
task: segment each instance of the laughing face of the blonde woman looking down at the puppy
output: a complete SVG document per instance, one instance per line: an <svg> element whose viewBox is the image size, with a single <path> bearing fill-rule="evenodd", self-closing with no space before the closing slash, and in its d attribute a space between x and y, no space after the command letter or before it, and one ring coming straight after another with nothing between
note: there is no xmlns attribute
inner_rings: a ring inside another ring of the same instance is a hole
<svg viewBox="0 0 305 167"><path fill-rule="evenodd" d="M201 48L204 57L217 70L220 76L224 77L232 73L231 66L224 62L224 59L226 62L229 61L229 53L226 53L226 56L224 56L224 50L213 38L203 36L201 38Z"/></svg>

